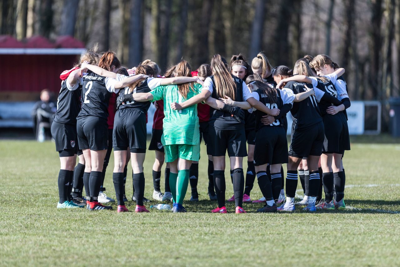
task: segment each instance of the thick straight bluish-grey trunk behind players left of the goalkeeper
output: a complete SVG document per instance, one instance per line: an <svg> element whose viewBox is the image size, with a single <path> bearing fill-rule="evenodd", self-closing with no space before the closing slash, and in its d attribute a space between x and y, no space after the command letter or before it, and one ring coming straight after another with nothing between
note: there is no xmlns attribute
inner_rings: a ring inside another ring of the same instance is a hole
<svg viewBox="0 0 400 267"><path fill-rule="evenodd" d="M133 0L130 8L129 66L142 61L143 51L143 0Z"/></svg>

